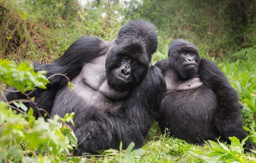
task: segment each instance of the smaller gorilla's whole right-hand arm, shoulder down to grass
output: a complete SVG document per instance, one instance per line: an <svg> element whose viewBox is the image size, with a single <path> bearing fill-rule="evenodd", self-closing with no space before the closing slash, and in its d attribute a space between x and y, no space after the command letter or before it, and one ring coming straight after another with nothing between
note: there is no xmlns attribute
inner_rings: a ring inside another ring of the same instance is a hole
<svg viewBox="0 0 256 163"><path fill-rule="evenodd" d="M240 141L246 137L241 117L241 104L237 91L234 90L219 67L207 59L201 59L199 75L203 83L212 89L218 100L219 110L215 116L215 125L222 135L222 139L229 142L228 137L235 136ZM247 141L245 147L251 149L252 144Z"/></svg>

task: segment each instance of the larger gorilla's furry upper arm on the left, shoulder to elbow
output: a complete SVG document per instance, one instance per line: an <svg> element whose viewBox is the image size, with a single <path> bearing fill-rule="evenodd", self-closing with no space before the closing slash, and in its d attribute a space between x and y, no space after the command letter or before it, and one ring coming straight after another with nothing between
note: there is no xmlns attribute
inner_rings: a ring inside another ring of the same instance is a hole
<svg viewBox="0 0 256 163"><path fill-rule="evenodd" d="M97 37L84 36L75 41L63 56L52 63L38 65L35 70L46 70L48 72L47 77L57 73L66 74L71 80L80 72L84 63L102 55L101 51L104 49L108 50L106 45L103 45L103 40ZM50 85L68 83L67 78L62 75L52 76L49 80Z"/></svg>

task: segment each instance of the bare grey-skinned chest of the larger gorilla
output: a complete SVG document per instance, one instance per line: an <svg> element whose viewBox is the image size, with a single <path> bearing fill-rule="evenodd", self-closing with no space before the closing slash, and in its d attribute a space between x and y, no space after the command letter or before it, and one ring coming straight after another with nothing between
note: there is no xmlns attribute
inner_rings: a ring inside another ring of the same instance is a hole
<svg viewBox="0 0 256 163"><path fill-rule="evenodd" d="M84 64L71 83L73 91L84 102L97 107L116 107L129 92L119 92L108 85L105 71L106 55Z"/></svg>

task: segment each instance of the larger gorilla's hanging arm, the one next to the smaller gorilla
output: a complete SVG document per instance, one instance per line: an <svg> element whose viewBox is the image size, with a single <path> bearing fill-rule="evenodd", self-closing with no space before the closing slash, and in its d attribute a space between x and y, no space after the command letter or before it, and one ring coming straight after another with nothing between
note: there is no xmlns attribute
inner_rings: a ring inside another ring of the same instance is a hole
<svg viewBox="0 0 256 163"><path fill-rule="evenodd" d="M124 103L125 118L120 118L120 120L127 122L118 121L127 126L117 128L118 133L122 134L121 138L125 148L134 140L137 140L135 142L137 148L143 145L144 139L139 139L146 137L155 113L161 106L165 90L166 85L160 70L156 66L151 66L141 84L133 90Z"/></svg>

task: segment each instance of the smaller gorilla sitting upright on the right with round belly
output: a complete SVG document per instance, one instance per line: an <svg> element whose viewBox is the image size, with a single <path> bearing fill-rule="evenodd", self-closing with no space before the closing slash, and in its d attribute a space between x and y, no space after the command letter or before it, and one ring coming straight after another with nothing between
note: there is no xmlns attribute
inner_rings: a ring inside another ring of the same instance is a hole
<svg viewBox="0 0 256 163"><path fill-rule="evenodd" d="M167 92L159 110L162 131L192 143L203 140L229 142L246 137L242 127L237 92L218 66L201 59L197 48L182 39L169 44L168 59L156 63L164 76ZM252 148L247 141L245 147Z"/></svg>

